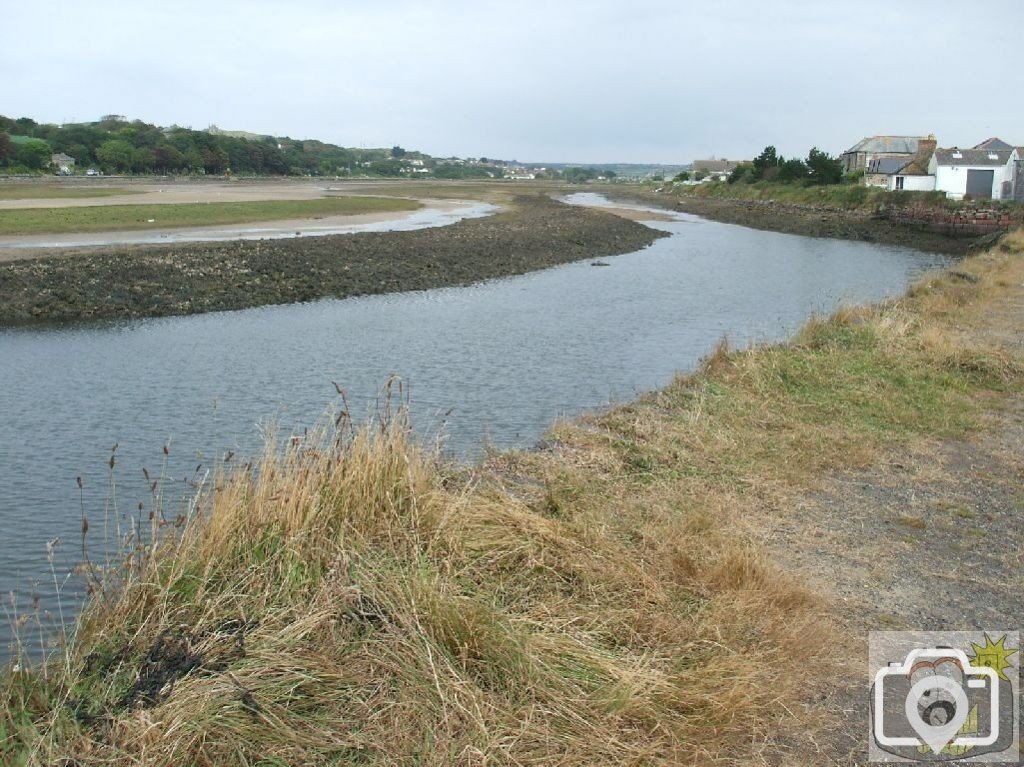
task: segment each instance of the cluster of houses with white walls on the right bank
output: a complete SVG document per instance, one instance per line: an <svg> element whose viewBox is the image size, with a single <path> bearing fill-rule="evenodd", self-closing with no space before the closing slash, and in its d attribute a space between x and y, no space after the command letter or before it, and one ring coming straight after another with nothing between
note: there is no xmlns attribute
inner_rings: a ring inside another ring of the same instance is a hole
<svg viewBox="0 0 1024 767"><path fill-rule="evenodd" d="M910 150L913 150L910 152ZM1024 147L1000 138L938 148L935 136L872 136L842 155L847 172L892 191L943 191L951 200L1024 202Z"/></svg>

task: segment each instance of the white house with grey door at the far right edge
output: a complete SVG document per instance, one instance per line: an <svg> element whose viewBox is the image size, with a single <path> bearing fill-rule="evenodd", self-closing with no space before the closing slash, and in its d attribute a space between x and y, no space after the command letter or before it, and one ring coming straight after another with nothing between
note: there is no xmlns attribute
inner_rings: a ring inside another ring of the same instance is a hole
<svg viewBox="0 0 1024 767"><path fill-rule="evenodd" d="M935 188L952 200L1012 200L1016 150L937 150L928 165Z"/></svg>

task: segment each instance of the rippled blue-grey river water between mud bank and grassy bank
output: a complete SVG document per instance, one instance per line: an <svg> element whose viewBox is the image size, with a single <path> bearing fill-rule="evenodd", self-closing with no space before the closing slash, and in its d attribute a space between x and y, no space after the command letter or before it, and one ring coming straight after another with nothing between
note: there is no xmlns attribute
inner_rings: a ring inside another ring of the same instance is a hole
<svg viewBox="0 0 1024 767"><path fill-rule="evenodd" d="M228 451L255 455L271 424L288 436L316 423L339 404L332 382L358 417L399 376L424 438L472 459L485 444L528 448L560 416L665 385L722 338L781 339L814 312L898 294L948 263L673 218L650 223L672 237L602 265L469 288L0 330L0 661L9 620L33 610L33 595L56 620L54 573L66 617L74 612L81 585L67 573L82 559L83 505L90 538L104 518L125 529L151 505L144 468L169 477L174 506ZM25 639L38 653L38 638Z"/></svg>

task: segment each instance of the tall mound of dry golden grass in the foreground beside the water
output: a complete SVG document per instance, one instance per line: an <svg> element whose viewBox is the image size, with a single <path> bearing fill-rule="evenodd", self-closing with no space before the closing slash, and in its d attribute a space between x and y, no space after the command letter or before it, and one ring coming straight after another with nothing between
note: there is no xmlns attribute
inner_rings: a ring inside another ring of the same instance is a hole
<svg viewBox="0 0 1024 767"><path fill-rule="evenodd" d="M813 602L741 541L709 555L685 509L650 501L561 518L457 479L400 418L270 451L136 555L82 616L70 670L8 678L11 758L741 756L799 687L779 672L822 642Z"/></svg>

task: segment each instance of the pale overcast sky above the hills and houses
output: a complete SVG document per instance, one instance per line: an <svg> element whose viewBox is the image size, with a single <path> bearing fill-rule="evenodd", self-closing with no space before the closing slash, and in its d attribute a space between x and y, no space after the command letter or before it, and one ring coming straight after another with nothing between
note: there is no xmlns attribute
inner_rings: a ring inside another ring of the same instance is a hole
<svg viewBox="0 0 1024 767"><path fill-rule="evenodd" d="M520 162L1024 143L1020 0L36 0L0 115Z"/></svg>

